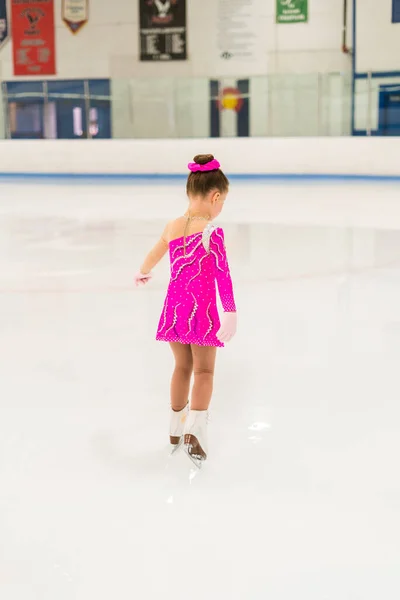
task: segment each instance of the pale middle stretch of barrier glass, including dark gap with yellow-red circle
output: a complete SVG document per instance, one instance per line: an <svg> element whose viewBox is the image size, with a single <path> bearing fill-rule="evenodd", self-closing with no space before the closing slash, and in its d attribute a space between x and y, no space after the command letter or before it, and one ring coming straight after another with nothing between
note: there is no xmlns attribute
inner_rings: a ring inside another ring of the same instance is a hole
<svg viewBox="0 0 400 600"><path fill-rule="evenodd" d="M350 135L351 75L113 79L113 137Z"/></svg>

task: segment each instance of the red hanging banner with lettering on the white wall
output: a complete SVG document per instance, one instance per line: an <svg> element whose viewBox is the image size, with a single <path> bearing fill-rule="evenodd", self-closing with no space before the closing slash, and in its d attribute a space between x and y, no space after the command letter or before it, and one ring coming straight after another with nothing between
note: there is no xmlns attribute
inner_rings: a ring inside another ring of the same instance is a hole
<svg viewBox="0 0 400 600"><path fill-rule="evenodd" d="M14 75L55 75L53 0L11 0Z"/></svg>

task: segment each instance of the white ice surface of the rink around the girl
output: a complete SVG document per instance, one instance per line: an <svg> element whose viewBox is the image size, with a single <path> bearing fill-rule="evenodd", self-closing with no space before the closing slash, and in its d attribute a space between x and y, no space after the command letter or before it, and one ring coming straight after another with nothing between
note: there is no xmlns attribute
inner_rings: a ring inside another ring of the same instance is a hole
<svg viewBox="0 0 400 600"><path fill-rule="evenodd" d="M233 182L239 311L169 457L184 182L0 182L2 600L398 600L400 185Z"/></svg>

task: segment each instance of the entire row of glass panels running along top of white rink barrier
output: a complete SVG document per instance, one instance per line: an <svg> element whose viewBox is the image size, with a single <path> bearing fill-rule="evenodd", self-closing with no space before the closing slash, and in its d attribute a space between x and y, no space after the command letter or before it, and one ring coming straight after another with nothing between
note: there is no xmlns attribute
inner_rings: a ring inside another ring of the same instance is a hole
<svg viewBox="0 0 400 600"><path fill-rule="evenodd" d="M66 135L61 126L63 111L73 115L76 107L82 107L88 121L82 136L74 136L76 139L394 135L387 123L393 121L390 115L397 115L398 109L386 92L397 90L399 85L400 77L388 79L387 74L382 80L376 74L358 76L353 99L349 72L229 79L140 77L3 82L0 136L13 137L15 122L10 122L10 114L15 116L16 107L10 113L10 103L44 103L42 134L46 139L62 139ZM49 103L53 103L51 110ZM21 118L29 113L28 109L21 111L20 106ZM49 114L57 127L48 126ZM96 114L96 118L91 119L91 114ZM72 116L68 131L72 136ZM24 135L22 128L18 136Z"/></svg>

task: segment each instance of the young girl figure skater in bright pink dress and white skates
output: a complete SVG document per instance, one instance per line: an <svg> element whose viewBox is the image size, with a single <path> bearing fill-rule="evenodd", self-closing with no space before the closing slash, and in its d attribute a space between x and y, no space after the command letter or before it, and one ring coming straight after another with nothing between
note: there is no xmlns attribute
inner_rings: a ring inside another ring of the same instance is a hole
<svg viewBox="0 0 400 600"><path fill-rule="evenodd" d="M171 279L156 339L169 342L175 357L170 442L177 449L183 437L186 452L201 467L207 458L207 411L216 351L236 332L236 306L224 232L211 224L222 210L229 181L211 154L195 156L188 167L188 210L165 227L135 275L135 284L145 285L151 279L151 270L169 249ZM221 321L215 283L224 310Z"/></svg>

